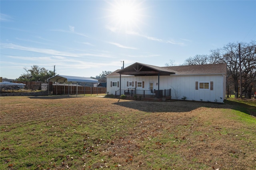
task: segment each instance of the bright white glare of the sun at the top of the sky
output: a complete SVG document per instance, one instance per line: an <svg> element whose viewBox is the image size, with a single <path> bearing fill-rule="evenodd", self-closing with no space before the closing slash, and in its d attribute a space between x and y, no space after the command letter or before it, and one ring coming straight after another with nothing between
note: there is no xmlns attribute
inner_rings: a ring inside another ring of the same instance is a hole
<svg viewBox="0 0 256 170"><path fill-rule="evenodd" d="M112 1L110 5L111 23L119 29L132 30L139 27L142 20L142 1Z"/></svg>

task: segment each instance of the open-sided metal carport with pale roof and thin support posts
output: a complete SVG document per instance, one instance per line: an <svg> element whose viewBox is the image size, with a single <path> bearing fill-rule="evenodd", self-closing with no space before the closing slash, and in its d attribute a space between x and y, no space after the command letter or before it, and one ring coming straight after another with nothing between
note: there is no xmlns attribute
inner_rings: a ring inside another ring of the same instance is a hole
<svg viewBox="0 0 256 170"><path fill-rule="evenodd" d="M69 85L70 83L76 83L76 96L78 94L78 82L85 82L85 83L98 83L98 80L92 79L89 77L76 77L76 76L68 76L68 75L55 75L53 77L50 77L47 79L48 85L50 85L49 82L56 82L56 91L59 83L68 83L68 96L70 94L69 92ZM48 95L50 95L50 89L48 88Z"/></svg>

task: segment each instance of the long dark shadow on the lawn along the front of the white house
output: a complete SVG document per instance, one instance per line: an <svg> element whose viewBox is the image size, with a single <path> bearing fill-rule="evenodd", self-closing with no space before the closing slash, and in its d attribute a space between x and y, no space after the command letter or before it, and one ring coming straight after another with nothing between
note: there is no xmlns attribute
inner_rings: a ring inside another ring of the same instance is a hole
<svg viewBox="0 0 256 170"><path fill-rule="evenodd" d="M172 101L172 102L151 102L151 101L122 101L115 105L137 109L144 112L190 112L200 107L234 109L248 115L256 116L256 107L236 101L225 101L224 104L204 103L195 101Z"/></svg>

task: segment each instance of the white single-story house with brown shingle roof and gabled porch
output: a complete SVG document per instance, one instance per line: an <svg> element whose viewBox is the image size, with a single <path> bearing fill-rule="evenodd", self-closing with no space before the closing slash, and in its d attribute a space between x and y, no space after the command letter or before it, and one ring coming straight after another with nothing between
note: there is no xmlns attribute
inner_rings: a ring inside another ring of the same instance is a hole
<svg viewBox="0 0 256 170"><path fill-rule="evenodd" d="M158 67L134 63L107 76L107 93L223 103L226 63Z"/></svg>

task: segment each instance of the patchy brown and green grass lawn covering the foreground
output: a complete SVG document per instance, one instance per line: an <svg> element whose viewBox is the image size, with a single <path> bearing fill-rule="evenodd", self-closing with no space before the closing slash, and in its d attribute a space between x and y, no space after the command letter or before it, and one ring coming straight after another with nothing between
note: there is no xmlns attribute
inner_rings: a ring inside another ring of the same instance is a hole
<svg viewBox="0 0 256 170"><path fill-rule="evenodd" d="M256 100L0 97L0 169L256 169Z"/></svg>

